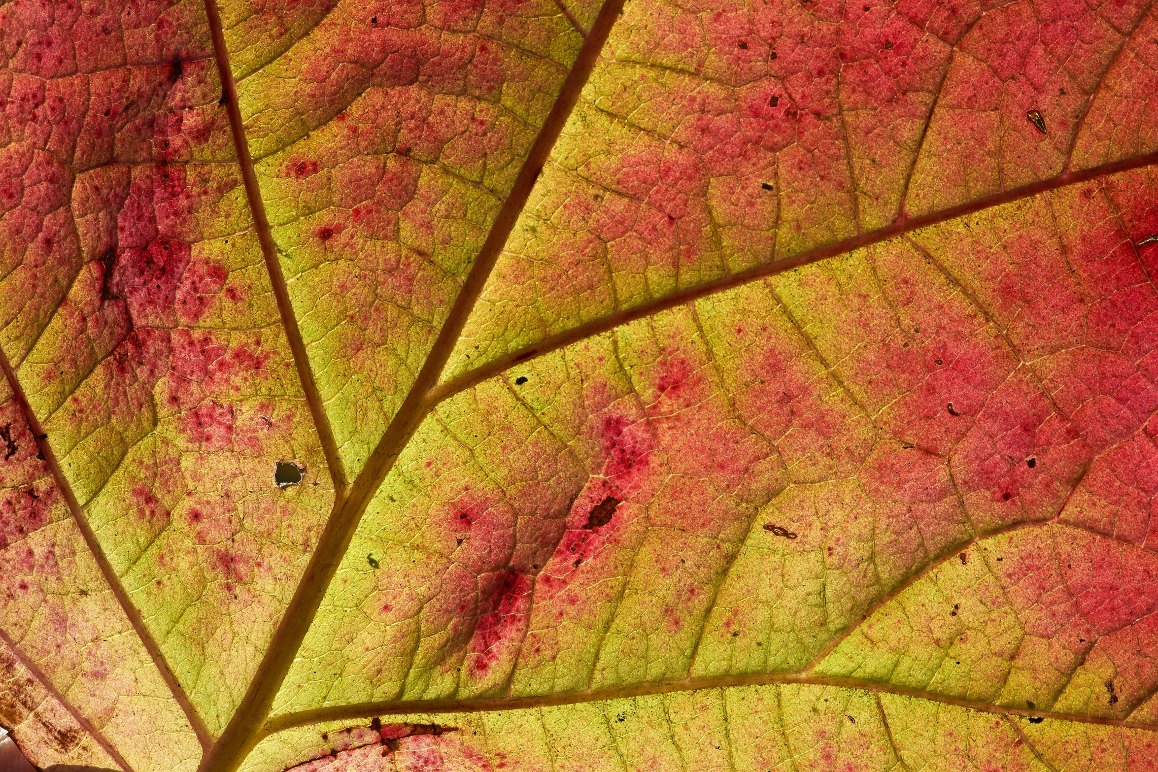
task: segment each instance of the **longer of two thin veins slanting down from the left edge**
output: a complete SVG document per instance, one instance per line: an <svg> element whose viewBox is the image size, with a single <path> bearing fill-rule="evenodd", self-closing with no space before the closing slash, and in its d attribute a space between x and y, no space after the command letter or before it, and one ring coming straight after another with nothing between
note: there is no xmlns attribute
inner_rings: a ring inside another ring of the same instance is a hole
<svg viewBox="0 0 1158 772"><path fill-rule="evenodd" d="M28 421L28 428L32 432L32 435L37 438L36 444L39 447L41 454L44 456L44 463L52 472L52 479L57 484L57 488L60 491L60 495L64 498L65 503L68 505L68 510L72 513L73 520L76 522L76 528L80 530L81 537L85 539L85 544L88 545L89 552L93 553L93 559L101 569L104 581L108 582L109 588L116 596L117 603L120 604L125 616L129 617L129 623L137 632L138 638L140 638L141 642L145 645L145 650L147 650L149 657L152 657L153 664L156 666L156 669L161 674L161 678L169 688L174 699L176 699L177 704L181 705L181 709L184 712L185 718L193 728L193 733L197 735L197 740L200 742L201 748L207 749L210 747L208 728L201 720L200 714L193 708L192 703L189 701L189 697L181 688L181 684L177 683L177 678L169 669L169 663L166 661L164 654L161 652L161 647L157 645L156 640L154 640L153 635L149 634L140 611L138 611L137 606L133 605L132 600L129 597L129 593L125 591L125 588L120 584L120 578L117 576L117 572L113 571L108 556L104 554L104 549L101 546L101 542L96 538L96 532L93 530L88 519L85 516L85 510L81 509L80 502L76 500L76 494L73 492L72 486L68 485L68 480L65 479L64 472L60 470L60 463L57 461L57 456L52 453L52 447L49 444L47 434L45 434L44 427L41 426L39 420L37 420L36 414L32 412L31 405L28 404L24 390L16 380L16 373L13 372L12 366L8 363L8 355L2 348L0 348L0 369L3 370L3 376L8 381L9 388L12 388L13 397L16 399L16 404L20 405L20 410L24 414L24 420Z"/></svg>

